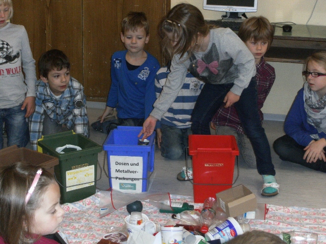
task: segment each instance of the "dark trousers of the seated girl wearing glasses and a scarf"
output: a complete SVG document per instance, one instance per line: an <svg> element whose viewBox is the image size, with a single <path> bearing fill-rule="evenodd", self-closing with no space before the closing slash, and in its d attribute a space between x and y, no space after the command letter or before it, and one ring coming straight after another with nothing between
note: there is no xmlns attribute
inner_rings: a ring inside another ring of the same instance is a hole
<svg viewBox="0 0 326 244"><path fill-rule="evenodd" d="M304 155L306 152L304 150L305 146L298 144L288 135L284 135L276 139L273 146L275 153L277 153L280 156L280 159L283 161L289 161L310 169L326 172L326 162L318 159L316 163L307 163L306 160L304 160Z"/></svg>

